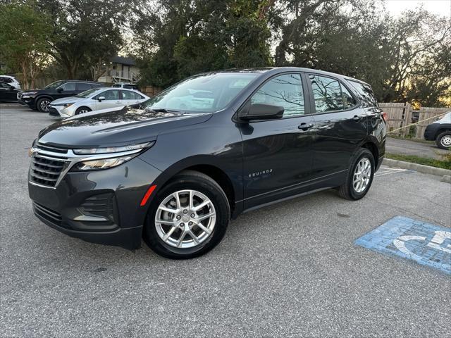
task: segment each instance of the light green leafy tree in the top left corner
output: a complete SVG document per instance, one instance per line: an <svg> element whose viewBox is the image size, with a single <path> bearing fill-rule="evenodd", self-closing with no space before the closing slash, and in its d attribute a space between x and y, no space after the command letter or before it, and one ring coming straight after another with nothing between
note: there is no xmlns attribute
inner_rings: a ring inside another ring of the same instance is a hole
<svg viewBox="0 0 451 338"><path fill-rule="evenodd" d="M35 86L49 62L49 18L34 6L33 1L0 4L0 56L13 72L23 73L25 88Z"/></svg>

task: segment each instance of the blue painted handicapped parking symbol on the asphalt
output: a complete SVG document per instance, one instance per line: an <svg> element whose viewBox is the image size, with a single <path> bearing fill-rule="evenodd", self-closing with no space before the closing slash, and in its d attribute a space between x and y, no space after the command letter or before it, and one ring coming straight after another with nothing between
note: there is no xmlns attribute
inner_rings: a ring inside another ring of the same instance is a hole
<svg viewBox="0 0 451 338"><path fill-rule="evenodd" d="M412 259L451 275L451 229L397 216L354 242L366 249Z"/></svg>

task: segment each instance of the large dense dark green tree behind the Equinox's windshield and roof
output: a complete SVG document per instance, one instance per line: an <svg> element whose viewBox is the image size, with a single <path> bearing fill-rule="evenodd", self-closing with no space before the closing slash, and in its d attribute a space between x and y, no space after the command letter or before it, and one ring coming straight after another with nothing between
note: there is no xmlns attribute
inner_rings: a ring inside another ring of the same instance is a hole
<svg viewBox="0 0 451 338"><path fill-rule="evenodd" d="M140 37L135 51L145 51L139 62L142 82L167 87L203 71L272 63L273 0L161 0L158 4L158 18L152 13L138 15L132 23Z"/></svg>

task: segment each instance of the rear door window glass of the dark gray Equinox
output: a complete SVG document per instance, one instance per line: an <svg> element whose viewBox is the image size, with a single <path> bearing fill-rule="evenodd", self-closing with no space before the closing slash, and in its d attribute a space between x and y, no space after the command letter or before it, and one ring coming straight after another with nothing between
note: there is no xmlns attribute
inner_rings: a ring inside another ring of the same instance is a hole
<svg viewBox="0 0 451 338"><path fill-rule="evenodd" d="M309 79L316 113L342 111L355 106L351 93L338 80L319 75L309 75Z"/></svg>

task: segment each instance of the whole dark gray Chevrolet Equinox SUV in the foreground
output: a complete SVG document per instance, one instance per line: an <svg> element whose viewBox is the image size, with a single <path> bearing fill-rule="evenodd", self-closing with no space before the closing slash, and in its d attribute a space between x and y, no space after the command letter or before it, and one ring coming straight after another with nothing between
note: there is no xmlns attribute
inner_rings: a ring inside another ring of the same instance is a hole
<svg viewBox="0 0 451 338"><path fill-rule="evenodd" d="M306 68L204 73L39 132L37 217L89 242L190 258L243 211L321 189L361 199L385 153L369 84ZM302 213L299 209L299 213Z"/></svg>

